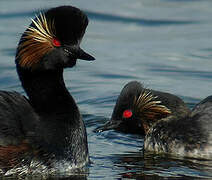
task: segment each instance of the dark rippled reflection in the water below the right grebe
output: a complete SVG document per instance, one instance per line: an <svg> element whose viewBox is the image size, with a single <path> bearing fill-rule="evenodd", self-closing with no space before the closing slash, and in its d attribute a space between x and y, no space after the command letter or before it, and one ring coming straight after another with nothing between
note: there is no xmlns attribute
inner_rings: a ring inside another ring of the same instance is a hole
<svg viewBox="0 0 212 180"><path fill-rule="evenodd" d="M206 178L212 177L211 161L180 159L151 153L129 153L117 158L116 166L124 167L125 178ZM204 167L204 168L202 168Z"/></svg>

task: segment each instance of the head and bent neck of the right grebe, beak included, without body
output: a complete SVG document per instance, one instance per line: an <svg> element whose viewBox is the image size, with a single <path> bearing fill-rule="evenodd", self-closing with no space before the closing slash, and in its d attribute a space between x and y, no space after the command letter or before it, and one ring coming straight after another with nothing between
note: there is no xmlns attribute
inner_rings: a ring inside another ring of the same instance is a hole
<svg viewBox="0 0 212 180"><path fill-rule="evenodd" d="M189 108L177 96L146 89L141 83L132 81L122 89L111 120L95 131L115 129L145 135L158 120L169 116L180 118L189 112Z"/></svg>

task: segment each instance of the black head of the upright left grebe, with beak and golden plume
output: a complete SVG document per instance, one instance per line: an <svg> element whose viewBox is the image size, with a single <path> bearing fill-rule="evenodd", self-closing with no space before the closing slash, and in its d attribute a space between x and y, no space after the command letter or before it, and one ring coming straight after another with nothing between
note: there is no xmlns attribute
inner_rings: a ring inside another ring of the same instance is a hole
<svg viewBox="0 0 212 180"><path fill-rule="evenodd" d="M17 66L46 70L72 67L77 59L94 60L80 48L87 25L87 16L72 6L40 13L21 37Z"/></svg>

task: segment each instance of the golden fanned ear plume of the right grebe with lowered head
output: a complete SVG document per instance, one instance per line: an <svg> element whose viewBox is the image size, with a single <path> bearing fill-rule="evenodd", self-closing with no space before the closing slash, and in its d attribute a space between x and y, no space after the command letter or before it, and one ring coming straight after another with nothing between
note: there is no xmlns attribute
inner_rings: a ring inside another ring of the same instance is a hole
<svg viewBox="0 0 212 180"><path fill-rule="evenodd" d="M139 97L135 97L134 106L136 107L140 116L146 117L149 120L156 120L158 117L163 117L171 114L170 109L162 105L161 101L155 100L151 91L143 91Z"/></svg>

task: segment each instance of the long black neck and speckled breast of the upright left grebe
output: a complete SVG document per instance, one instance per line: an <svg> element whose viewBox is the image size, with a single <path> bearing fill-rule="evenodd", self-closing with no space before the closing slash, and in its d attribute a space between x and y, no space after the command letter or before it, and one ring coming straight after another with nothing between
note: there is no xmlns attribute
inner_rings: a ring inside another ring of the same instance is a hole
<svg viewBox="0 0 212 180"><path fill-rule="evenodd" d="M84 162L88 155L86 130L66 89L63 69L31 71L17 66L17 71L29 102L40 117L38 144L58 158L66 156L76 164ZM79 154L82 155L78 157Z"/></svg>

